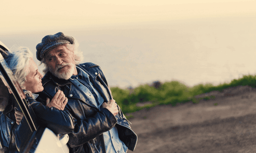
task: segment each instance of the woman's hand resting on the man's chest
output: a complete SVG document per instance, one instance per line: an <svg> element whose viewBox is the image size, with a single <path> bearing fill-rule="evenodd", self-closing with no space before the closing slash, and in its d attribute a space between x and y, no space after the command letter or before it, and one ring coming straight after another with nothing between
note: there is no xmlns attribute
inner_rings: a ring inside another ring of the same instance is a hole
<svg viewBox="0 0 256 153"><path fill-rule="evenodd" d="M58 90L57 93L55 93L52 101L50 102L50 99L47 98L46 100L46 106L48 107L55 107L58 110L64 110L65 106L67 103L67 98L65 96L65 94L63 93L63 91Z"/></svg>

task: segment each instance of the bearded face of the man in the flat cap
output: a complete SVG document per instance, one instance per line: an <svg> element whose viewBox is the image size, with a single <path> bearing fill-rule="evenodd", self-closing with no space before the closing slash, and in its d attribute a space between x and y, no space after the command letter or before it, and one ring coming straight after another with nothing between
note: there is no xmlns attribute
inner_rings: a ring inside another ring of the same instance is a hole
<svg viewBox="0 0 256 153"><path fill-rule="evenodd" d="M54 76L65 80L72 76L75 70L75 55L65 45L53 48L44 57Z"/></svg>

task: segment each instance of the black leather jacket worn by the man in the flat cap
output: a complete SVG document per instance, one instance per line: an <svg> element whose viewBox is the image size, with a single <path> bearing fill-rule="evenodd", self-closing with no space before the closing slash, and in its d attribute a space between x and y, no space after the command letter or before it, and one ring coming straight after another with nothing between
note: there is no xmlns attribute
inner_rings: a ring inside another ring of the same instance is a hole
<svg viewBox="0 0 256 153"><path fill-rule="evenodd" d="M101 68L93 63L79 64L77 67L88 73L90 82L104 98L104 102L108 102L112 98L111 91ZM53 98L56 89L61 89L68 98L65 109L73 116L75 122L75 129L69 134L68 141L73 152L106 153L102 133L114 126L118 129L119 139L128 149L135 149L137 135L132 131L120 108L116 119L108 109L99 110L91 105L89 99L81 94L83 91L72 85L69 80L58 79L50 72L45 74L42 83L44 91L39 93L42 100L46 100L46 97Z"/></svg>

